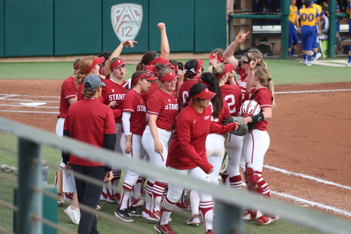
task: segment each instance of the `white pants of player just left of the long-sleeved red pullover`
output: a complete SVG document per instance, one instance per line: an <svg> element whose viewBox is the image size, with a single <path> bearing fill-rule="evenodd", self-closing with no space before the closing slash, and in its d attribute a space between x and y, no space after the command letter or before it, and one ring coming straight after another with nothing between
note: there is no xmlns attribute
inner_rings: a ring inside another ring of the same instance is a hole
<svg viewBox="0 0 351 234"><path fill-rule="evenodd" d="M165 163L168 155L168 140L170 139L171 132L165 129L157 128L157 133L158 133L158 138L163 146L163 153L159 154L155 152L155 142L153 140L149 126L146 126L145 128L142 142L143 142L144 149L146 150L150 158L150 163L158 166L159 168L166 169ZM153 180L155 179L151 178L151 181ZM165 182L165 183L167 182L166 180L163 180L161 178L157 178L157 181Z"/></svg>

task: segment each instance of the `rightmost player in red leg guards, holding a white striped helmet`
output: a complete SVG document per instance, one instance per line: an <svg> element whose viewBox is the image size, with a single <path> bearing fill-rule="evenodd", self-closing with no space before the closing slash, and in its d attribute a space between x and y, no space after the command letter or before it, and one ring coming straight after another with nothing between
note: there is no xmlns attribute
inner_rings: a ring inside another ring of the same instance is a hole
<svg viewBox="0 0 351 234"><path fill-rule="evenodd" d="M269 70L259 67L254 71L255 66L256 62L251 61L249 71L251 78L247 79L247 85L253 88L248 88L247 92L250 94L250 99L256 101L263 112L243 119L244 123L254 123L251 132L244 136L245 178L250 192L256 192L261 196L271 198L269 185L262 176L262 169L264 155L270 143L267 123L272 118L272 106L275 106L274 88ZM267 225L278 220L279 217L271 214L260 216L257 210L247 210L243 219L257 219L259 225Z"/></svg>

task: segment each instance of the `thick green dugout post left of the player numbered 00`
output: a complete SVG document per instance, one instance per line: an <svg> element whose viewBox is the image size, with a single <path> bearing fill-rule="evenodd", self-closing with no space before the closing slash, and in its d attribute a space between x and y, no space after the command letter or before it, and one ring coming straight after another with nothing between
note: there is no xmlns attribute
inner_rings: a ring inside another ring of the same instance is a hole
<svg viewBox="0 0 351 234"><path fill-rule="evenodd" d="M280 38L280 58L287 59L289 50L290 1L281 1L280 4L280 25L282 27L282 38Z"/></svg>

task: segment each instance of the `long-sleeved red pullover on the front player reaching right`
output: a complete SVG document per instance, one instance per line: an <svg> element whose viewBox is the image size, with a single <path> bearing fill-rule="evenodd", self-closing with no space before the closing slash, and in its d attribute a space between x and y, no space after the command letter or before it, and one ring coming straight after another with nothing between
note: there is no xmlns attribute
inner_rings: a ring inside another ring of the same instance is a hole
<svg viewBox="0 0 351 234"><path fill-rule="evenodd" d="M211 107L198 113L192 105L178 115L166 166L184 170L200 167L204 172L213 167L206 156L206 137L209 133L230 132L235 123L226 126L211 122Z"/></svg>

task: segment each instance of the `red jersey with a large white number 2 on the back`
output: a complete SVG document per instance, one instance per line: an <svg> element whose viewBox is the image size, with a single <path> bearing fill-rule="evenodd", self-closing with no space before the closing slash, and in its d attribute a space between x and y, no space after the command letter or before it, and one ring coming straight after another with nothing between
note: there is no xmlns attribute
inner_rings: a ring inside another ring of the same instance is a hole
<svg viewBox="0 0 351 234"><path fill-rule="evenodd" d="M228 104L230 115L239 116L240 101L243 99L241 88L238 85L221 85L219 88L222 98Z"/></svg>

